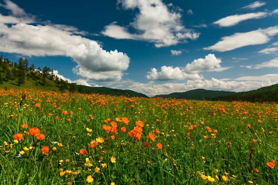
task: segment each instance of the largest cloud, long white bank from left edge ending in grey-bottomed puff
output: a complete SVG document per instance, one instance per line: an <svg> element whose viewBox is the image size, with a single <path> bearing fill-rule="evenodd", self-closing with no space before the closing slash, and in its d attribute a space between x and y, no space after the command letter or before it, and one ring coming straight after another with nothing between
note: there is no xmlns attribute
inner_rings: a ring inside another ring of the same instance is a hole
<svg viewBox="0 0 278 185"><path fill-rule="evenodd" d="M35 22L33 16L14 3L5 2L6 5L2 6L11 10L12 15L0 14L0 51L28 56L68 56L77 63L75 72L81 77L100 81L121 80L122 72L127 70L130 61L126 54L104 50L96 41L82 37L84 32L76 27L28 24L26 20Z"/></svg>

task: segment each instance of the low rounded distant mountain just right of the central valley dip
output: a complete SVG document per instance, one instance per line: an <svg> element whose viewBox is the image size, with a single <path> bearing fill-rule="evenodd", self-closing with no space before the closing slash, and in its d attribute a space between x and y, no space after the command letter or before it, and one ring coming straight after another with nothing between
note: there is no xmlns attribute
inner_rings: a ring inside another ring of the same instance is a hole
<svg viewBox="0 0 278 185"><path fill-rule="evenodd" d="M206 90L206 89L194 89L185 92L174 92L171 94L160 94L156 95L155 97L162 97L162 98L178 98L178 99L194 99L194 100L201 100L202 98L205 99L212 99L224 95L232 95L235 92L230 91L214 91L214 90Z"/></svg>

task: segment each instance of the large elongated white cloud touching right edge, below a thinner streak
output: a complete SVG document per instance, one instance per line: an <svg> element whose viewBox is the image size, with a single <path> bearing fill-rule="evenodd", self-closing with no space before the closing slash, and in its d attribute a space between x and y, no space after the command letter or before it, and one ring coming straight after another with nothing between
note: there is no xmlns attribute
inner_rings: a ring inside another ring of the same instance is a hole
<svg viewBox="0 0 278 185"><path fill-rule="evenodd" d="M278 33L278 26L258 29L245 33L235 33L231 36L222 37L213 46L205 47L204 50L230 51L239 47L267 43L271 36Z"/></svg>

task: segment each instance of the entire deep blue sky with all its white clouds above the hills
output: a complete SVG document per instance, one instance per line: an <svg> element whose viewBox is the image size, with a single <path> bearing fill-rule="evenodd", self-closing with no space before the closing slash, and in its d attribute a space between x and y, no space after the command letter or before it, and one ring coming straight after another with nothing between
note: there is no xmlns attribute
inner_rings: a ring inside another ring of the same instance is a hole
<svg viewBox="0 0 278 185"><path fill-rule="evenodd" d="M0 54L147 96L278 83L278 1L0 0Z"/></svg>

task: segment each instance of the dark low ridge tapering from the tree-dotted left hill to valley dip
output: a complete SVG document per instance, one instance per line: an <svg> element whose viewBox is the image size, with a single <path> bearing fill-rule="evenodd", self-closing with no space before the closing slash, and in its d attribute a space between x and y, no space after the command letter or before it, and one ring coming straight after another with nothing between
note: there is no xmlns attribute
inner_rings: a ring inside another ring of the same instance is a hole
<svg viewBox="0 0 278 185"><path fill-rule="evenodd" d="M122 90L107 87L88 87L84 85L77 85L77 91L81 93L98 93L98 94L110 94L115 96L131 96L131 97L147 97L145 94L135 92L132 90Z"/></svg>

